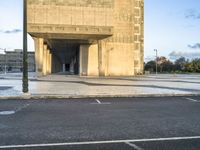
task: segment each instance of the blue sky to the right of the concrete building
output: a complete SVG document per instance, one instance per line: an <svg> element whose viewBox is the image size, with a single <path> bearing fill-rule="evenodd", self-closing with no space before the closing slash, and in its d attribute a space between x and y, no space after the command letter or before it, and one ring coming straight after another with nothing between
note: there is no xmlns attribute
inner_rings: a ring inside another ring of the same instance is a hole
<svg viewBox="0 0 200 150"><path fill-rule="evenodd" d="M144 39L146 59L155 48L167 57L173 51L200 57L200 1L145 0Z"/></svg>

